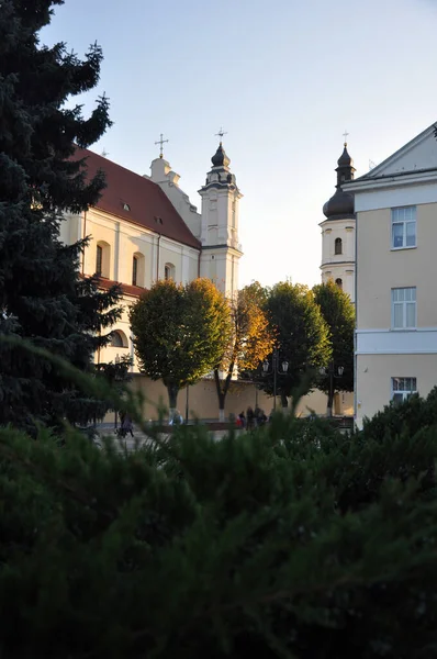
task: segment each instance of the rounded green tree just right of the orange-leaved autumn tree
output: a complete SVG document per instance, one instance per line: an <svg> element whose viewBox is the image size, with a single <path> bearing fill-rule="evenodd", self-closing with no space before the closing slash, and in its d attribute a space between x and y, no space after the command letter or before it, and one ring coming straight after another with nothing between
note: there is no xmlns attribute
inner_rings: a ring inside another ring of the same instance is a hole
<svg viewBox="0 0 437 659"><path fill-rule="evenodd" d="M313 292L300 283L282 281L273 286L267 311L276 331L278 367L283 360L288 361L287 373L277 376L277 391L285 407L288 398L300 387L304 375L307 388L311 388L317 381L318 369L328 365L332 356L328 327ZM273 378L271 372L259 378L259 386L270 394L273 393Z"/></svg>

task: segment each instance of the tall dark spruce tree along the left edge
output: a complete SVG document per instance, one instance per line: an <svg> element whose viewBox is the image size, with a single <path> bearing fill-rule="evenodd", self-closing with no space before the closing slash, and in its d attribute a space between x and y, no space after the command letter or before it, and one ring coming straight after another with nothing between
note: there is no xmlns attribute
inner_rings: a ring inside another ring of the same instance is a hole
<svg viewBox="0 0 437 659"><path fill-rule="evenodd" d="M88 119L81 105L66 105L93 89L102 52L85 60L65 44L40 44L40 31L60 0L3 0L0 11L0 332L92 369L96 349L120 315L119 290L101 292L79 277L86 242L61 244L63 213L96 203L102 172L87 176L75 143L89 146L111 125L102 98ZM20 348L0 349L0 424L34 427L67 417L86 422L102 405L82 399L52 366Z"/></svg>

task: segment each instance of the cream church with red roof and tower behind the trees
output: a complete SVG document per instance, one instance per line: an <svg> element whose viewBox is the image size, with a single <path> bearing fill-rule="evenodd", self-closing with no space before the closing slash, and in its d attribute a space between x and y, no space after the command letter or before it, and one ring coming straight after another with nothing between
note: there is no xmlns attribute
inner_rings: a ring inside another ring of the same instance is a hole
<svg viewBox="0 0 437 659"><path fill-rule="evenodd" d="M158 279L187 283L198 277L211 279L232 297L238 290L238 203L242 193L222 142L211 158L212 167L200 188L201 212L179 187L179 175L160 155L150 176L141 176L88 149L90 176L103 170L107 188L96 206L68 215L60 238L66 244L89 236L81 272L100 277L100 286L119 282L123 291L123 317L114 325L112 345L97 355L102 362L131 356L134 347L128 308Z"/></svg>

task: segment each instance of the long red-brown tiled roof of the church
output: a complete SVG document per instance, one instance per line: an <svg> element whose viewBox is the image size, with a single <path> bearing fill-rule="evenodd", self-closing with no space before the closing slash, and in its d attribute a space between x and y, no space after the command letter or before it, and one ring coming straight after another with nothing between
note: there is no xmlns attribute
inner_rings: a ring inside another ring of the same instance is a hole
<svg viewBox="0 0 437 659"><path fill-rule="evenodd" d="M107 188L96 208L200 249L200 242L157 183L87 148L77 148L74 157L87 158L90 177L99 169L105 172ZM125 210L124 204L128 204L131 210Z"/></svg>

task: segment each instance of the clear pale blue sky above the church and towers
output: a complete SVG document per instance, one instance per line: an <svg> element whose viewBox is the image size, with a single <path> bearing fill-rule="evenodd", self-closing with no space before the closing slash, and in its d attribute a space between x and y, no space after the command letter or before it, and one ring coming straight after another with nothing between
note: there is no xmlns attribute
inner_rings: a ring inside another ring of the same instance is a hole
<svg viewBox="0 0 437 659"><path fill-rule="evenodd" d="M198 206L224 126L240 286L318 282L345 130L360 176L437 120L437 0L66 0L42 41L102 46L83 102L104 91L114 125L93 150L149 174L164 133Z"/></svg>

